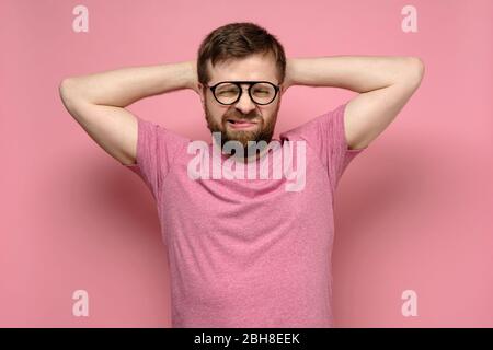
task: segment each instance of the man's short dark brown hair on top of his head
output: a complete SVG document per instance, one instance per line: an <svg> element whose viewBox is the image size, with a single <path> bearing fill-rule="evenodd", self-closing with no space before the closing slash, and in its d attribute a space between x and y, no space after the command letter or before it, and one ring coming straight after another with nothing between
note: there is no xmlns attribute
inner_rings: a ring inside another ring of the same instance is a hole
<svg viewBox="0 0 493 350"><path fill-rule="evenodd" d="M198 82L206 85L209 80L207 60L214 67L231 58L243 58L253 54L272 54L276 60L279 84L286 74L286 56L277 38L264 27L251 22L236 22L210 32L198 48Z"/></svg>

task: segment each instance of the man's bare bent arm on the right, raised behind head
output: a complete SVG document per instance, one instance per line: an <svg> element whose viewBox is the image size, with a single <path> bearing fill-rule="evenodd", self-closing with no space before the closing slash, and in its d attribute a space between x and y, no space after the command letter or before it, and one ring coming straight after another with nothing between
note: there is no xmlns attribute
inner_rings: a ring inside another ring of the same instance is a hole
<svg viewBox="0 0 493 350"><path fill-rule="evenodd" d="M329 56L287 61L285 89L290 85L333 86L359 94L344 114L349 149L362 149L395 118L417 90L424 63L410 56Z"/></svg>

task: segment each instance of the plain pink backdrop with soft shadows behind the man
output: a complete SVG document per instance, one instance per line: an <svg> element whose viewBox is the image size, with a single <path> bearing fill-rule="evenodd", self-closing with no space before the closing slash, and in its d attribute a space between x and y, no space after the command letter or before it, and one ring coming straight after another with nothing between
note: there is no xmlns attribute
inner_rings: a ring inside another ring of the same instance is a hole
<svg viewBox="0 0 493 350"><path fill-rule="evenodd" d="M169 327L169 275L150 191L64 108L62 78L196 58L203 37L252 21L288 57L419 56L421 88L347 168L336 197L337 327L493 327L493 1L0 3L0 326ZM402 8L417 10L405 33ZM291 88L287 130L355 96ZM198 96L129 107L209 140ZM85 290L90 316L72 315ZM401 314L404 290L417 316Z"/></svg>

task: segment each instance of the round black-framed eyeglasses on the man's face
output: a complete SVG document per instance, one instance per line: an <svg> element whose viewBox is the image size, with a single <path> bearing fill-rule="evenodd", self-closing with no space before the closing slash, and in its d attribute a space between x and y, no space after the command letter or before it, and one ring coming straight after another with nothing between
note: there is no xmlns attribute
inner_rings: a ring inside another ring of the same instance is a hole
<svg viewBox="0 0 493 350"><path fill-rule="evenodd" d="M257 105L268 105L276 98L279 91L278 85L268 81L222 81L207 88L210 89L217 102L222 105L232 105L243 94L241 84L249 84L249 96Z"/></svg>

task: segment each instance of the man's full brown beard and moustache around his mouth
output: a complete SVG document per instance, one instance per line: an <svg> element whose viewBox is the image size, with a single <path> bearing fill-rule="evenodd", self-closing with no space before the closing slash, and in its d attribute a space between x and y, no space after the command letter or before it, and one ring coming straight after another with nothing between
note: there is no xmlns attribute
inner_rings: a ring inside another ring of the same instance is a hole
<svg viewBox="0 0 493 350"><path fill-rule="evenodd" d="M249 141L253 141L255 143L265 141L267 144L271 142L274 135L274 127L277 119L277 113L279 112L279 106L280 103L277 103L277 107L268 121L265 121L261 115L257 115L256 110L252 110L252 113L243 115L241 114L241 112L232 109L231 112L228 112L222 116L220 122L217 122L213 118L209 110L205 106L207 128L213 133L220 132L221 149L223 149L225 143L228 141L238 141L242 144L244 154L248 154ZM254 120L256 122L256 126L253 130L234 130L228 126L229 118L243 118L246 120ZM251 144L251 147L254 147L255 143Z"/></svg>

